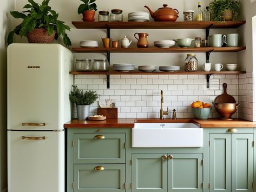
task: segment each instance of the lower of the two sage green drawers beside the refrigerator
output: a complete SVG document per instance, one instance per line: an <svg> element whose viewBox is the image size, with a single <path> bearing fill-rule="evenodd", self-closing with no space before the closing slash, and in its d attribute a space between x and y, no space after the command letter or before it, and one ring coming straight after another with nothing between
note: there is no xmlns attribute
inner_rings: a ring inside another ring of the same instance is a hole
<svg viewBox="0 0 256 192"><path fill-rule="evenodd" d="M96 168L104 170L95 170ZM75 164L74 192L125 191L124 164Z"/></svg>

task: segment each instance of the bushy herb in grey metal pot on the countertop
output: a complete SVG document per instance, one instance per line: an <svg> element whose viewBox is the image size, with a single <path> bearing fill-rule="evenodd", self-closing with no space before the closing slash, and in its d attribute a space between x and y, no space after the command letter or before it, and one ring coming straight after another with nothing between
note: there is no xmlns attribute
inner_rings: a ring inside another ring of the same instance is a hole
<svg viewBox="0 0 256 192"><path fill-rule="evenodd" d="M86 91L78 89L76 85L72 85L73 90L69 94L69 100L76 104L77 119L86 120L90 112L90 104L95 102L99 95L96 91Z"/></svg>

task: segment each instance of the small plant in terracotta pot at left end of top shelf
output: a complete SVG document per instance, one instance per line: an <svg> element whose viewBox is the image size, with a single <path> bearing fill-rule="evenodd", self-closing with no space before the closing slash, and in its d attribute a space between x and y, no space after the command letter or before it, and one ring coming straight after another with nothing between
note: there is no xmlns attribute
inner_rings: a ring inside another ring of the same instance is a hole
<svg viewBox="0 0 256 192"><path fill-rule="evenodd" d="M97 5L94 3L96 0L81 1L83 3L77 9L78 14L83 14L83 21L94 21L95 11L97 11Z"/></svg>

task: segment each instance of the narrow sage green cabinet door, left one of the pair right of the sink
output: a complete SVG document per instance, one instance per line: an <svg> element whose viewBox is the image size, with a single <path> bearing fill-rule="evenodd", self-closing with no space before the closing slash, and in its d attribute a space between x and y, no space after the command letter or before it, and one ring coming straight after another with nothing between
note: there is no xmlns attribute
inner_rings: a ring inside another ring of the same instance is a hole
<svg viewBox="0 0 256 192"><path fill-rule="evenodd" d="M209 191L231 191L231 135L209 134Z"/></svg>

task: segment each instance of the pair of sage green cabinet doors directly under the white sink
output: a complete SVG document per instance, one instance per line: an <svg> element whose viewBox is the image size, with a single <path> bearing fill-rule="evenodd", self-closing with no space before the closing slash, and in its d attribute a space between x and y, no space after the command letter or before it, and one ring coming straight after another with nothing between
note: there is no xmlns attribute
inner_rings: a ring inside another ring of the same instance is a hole
<svg viewBox="0 0 256 192"><path fill-rule="evenodd" d="M202 154L132 154L132 191L202 191Z"/></svg>

